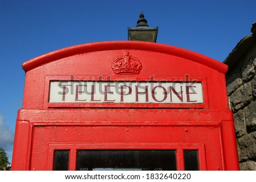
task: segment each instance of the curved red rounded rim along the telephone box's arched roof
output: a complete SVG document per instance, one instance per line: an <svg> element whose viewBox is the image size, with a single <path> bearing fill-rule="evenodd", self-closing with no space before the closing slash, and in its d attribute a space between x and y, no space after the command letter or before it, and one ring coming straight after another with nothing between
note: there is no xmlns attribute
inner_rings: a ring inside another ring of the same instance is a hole
<svg viewBox="0 0 256 182"><path fill-rule="evenodd" d="M211 67L212 69L220 71L221 73L226 73L226 71L228 71L227 65L202 54L192 52L191 50L178 48L171 45L148 43L143 41L104 41L69 46L67 48L55 50L53 52L43 54L42 56L35 57L32 60L26 61L23 63L22 67L25 71L29 71L40 65L47 64L48 62L56 61L64 57L73 56L75 54L117 49L138 49L166 53L198 62L205 66Z"/></svg>

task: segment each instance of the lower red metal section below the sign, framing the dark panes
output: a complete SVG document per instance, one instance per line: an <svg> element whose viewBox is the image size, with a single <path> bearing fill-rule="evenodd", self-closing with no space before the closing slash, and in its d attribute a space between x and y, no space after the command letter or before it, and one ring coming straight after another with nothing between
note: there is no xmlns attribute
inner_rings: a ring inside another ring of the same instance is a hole
<svg viewBox="0 0 256 182"><path fill-rule="evenodd" d="M14 170L52 170L53 149L71 151L70 170L79 149L176 149L178 170L184 170L183 150L197 149L200 170L238 170L230 111L76 110L20 110L16 132L24 136L15 141Z"/></svg>

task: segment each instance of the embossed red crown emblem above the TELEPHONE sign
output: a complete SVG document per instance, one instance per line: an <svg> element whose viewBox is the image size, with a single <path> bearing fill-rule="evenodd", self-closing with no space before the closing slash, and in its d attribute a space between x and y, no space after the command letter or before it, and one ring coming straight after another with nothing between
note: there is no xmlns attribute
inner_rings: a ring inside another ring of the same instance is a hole
<svg viewBox="0 0 256 182"><path fill-rule="evenodd" d="M112 64L112 70L116 74L139 74L142 69L141 62L124 51L123 56L118 57Z"/></svg>

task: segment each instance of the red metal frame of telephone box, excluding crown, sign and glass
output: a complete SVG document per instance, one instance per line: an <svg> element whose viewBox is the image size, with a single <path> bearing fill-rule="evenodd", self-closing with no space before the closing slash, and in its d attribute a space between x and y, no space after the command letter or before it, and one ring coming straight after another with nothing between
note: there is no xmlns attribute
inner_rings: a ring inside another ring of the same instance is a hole
<svg viewBox="0 0 256 182"><path fill-rule="evenodd" d="M140 74L114 74L123 52L142 63ZM141 41L71 46L24 62L23 108L18 112L12 170L52 170L53 151L70 151L76 169L79 149L199 150L200 170L239 170L228 67L189 50ZM189 78L186 78L189 75ZM50 81L194 81L203 83L204 103L49 103Z"/></svg>

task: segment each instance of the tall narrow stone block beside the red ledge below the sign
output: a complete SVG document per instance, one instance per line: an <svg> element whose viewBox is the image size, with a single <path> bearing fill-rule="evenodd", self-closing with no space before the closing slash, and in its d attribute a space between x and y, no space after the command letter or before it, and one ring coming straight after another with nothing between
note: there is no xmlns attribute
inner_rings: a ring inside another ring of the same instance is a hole
<svg viewBox="0 0 256 182"><path fill-rule="evenodd" d="M234 114L234 125L237 137L241 137L246 133L245 116L242 110Z"/></svg>

